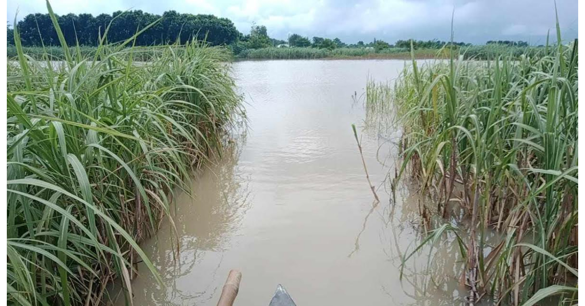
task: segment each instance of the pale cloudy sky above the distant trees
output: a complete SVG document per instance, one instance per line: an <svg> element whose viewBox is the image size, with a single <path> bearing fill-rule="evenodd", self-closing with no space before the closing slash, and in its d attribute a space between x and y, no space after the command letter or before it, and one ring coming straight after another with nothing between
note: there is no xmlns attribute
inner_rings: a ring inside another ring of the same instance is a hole
<svg viewBox="0 0 585 306"><path fill-rule="evenodd" d="M455 9L455 40L485 43L487 40L526 40L543 44L546 32L554 33L553 0L53 0L57 14L112 13L126 9L162 14L211 13L233 21L248 33L250 24L266 25L271 37L339 37L347 43L382 39L449 40ZM577 0L557 0L563 39L577 37ZM8 0L7 18L18 10L46 12L44 0ZM10 22L12 23L12 22Z"/></svg>

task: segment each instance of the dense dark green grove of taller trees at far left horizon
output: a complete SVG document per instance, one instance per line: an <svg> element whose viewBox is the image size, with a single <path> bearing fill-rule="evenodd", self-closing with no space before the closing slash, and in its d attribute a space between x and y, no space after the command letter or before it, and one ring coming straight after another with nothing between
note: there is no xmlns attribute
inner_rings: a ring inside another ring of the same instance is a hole
<svg viewBox="0 0 585 306"><path fill-rule="evenodd" d="M57 16L57 20L70 46L77 42L84 46L97 46L99 35L104 35L110 23L106 36L108 42L120 42L158 20L155 25L137 37L136 44L139 46L168 44L177 40L185 43L194 37L200 40L206 39L213 45L231 44L240 35L233 22L227 18L176 11L164 12L162 16L142 11L117 11L112 15L100 14L95 17L86 13L79 15L69 13ZM48 13L26 15L18 22L18 29L23 46L59 44L57 32ZM12 30L8 29L8 43L13 44L11 32Z"/></svg>

